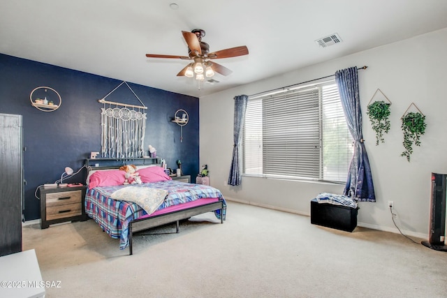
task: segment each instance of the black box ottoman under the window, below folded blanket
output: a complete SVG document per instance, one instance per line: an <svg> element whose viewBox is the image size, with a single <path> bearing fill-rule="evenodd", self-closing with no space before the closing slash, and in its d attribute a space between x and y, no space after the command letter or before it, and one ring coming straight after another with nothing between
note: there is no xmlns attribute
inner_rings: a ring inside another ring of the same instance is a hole
<svg viewBox="0 0 447 298"><path fill-rule="evenodd" d="M352 232L357 227L358 208L310 201L310 222L314 225Z"/></svg>

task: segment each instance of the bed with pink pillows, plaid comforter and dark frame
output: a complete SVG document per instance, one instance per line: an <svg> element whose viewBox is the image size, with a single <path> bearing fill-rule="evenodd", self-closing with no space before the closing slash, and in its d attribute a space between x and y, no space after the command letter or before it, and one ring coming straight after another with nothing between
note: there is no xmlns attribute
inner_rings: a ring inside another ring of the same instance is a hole
<svg viewBox="0 0 447 298"><path fill-rule="evenodd" d="M124 183L125 164L137 165L142 184ZM107 232L119 239L119 248L133 254L133 233L214 212L220 223L226 219L226 201L217 188L170 179L159 167L159 158L117 161L87 159L85 212Z"/></svg>

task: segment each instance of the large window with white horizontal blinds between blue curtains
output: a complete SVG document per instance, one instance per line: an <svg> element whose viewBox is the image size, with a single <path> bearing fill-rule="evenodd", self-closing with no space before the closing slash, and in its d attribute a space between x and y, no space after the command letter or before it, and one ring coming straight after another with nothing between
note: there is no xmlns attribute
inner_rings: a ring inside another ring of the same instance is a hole
<svg viewBox="0 0 447 298"><path fill-rule="evenodd" d="M352 142L333 80L249 98L244 174L345 182Z"/></svg>

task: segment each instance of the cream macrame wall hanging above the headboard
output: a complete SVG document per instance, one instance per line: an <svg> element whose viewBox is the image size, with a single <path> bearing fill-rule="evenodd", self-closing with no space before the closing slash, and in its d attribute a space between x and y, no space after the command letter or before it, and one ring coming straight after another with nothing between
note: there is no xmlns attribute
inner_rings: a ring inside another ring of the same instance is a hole
<svg viewBox="0 0 447 298"><path fill-rule="evenodd" d="M129 87L141 105L129 105L105 100L122 84ZM146 113L144 110L147 107L133 92L129 84L122 82L98 102L104 104L104 107L101 107L101 156L117 159L142 157L144 155L143 143L146 131Z"/></svg>

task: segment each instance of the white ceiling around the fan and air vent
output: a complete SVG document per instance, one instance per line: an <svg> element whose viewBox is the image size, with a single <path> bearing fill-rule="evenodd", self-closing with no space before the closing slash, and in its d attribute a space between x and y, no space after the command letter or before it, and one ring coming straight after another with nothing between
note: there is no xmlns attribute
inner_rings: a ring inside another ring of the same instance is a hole
<svg viewBox="0 0 447 298"><path fill-rule="evenodd" d="M196 97L446 27L446 0L0 0L0 53ZM200 90L176 76L189 61L145 57L187 56L196 28L210 52L249 48Z"/></svg>

